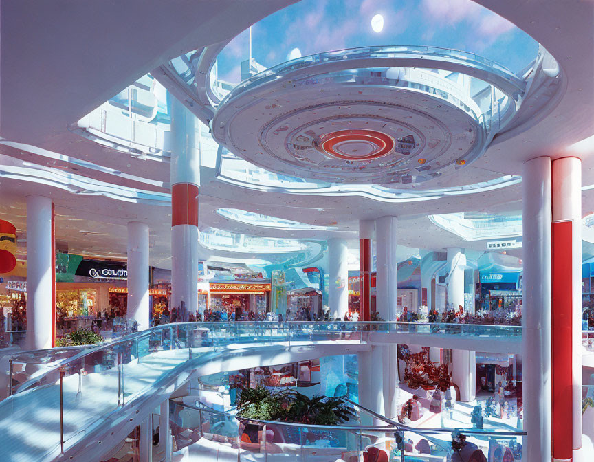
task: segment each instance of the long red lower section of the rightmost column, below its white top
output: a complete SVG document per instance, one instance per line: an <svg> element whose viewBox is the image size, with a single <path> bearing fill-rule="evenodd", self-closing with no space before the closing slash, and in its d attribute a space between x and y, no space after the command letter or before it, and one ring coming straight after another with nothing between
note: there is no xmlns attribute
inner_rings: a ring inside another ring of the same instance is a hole
<svg viewBox="0 0 594 462"><path fill-rule="evenodd" d="M572 310L573 233L571 221L553 223L552 246L552 420L553 458L573 457Z"/></svg>

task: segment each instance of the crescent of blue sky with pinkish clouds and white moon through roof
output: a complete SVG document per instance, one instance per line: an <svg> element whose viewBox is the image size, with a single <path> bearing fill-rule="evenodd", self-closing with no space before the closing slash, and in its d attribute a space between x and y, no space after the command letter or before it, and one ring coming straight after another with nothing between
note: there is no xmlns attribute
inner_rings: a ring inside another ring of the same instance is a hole
<svg viewBox="0 0 594 462"><path fill-rule="evenodd" d="M214 73L228 88L300 56L402 44L474 52L516 73L538 52L531 36L471 0L302 0L236 36Z"/></svg>

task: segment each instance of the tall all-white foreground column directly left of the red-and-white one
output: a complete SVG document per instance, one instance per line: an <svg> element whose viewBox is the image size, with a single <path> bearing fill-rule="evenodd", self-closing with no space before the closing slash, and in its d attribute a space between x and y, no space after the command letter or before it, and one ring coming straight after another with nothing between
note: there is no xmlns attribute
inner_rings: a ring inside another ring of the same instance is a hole
<svg viewBox="0 0 594 462"><path fill-rule="evenodd" d="M524 460L551 454L551 159L522 168Z"/></svg>

